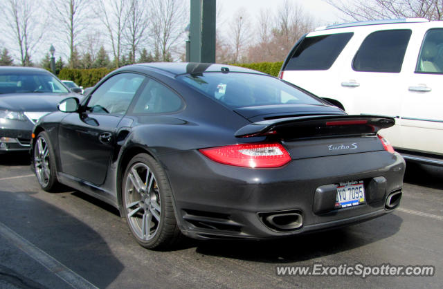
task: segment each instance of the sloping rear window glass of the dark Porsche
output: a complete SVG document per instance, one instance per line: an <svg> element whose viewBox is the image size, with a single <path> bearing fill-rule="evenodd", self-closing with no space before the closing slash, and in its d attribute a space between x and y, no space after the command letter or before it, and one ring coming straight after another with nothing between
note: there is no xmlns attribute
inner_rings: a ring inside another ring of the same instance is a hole
<svg viewBox="0 0 443 289"><path fill-rule="evenodd" d="M203 73L203 75L180 75L177 78L230 108L276 104L323 104L294 86L267 75Z"/></svg>

